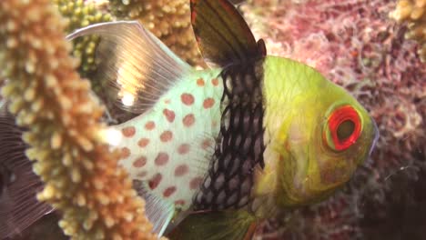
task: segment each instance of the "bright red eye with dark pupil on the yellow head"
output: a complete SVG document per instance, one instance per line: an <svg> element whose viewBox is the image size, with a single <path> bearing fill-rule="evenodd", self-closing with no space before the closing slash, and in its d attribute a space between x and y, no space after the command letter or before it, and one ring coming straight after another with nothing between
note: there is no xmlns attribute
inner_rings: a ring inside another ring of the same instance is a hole
<svg viewBox="0 0 426 240"><path fill-rule="evenodd" d="M355 144L360 137L360 115L350 105L334 109L328 117L324 139L335 151L343 151Z"/></svg>

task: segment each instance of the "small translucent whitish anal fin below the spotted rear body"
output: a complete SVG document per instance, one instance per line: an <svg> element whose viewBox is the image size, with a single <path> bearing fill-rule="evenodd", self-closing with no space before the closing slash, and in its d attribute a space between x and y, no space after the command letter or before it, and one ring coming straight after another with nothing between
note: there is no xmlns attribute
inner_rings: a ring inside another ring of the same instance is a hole
<svg viewBox="0 0 426 240"><path fill-rule="evenodd" d="M133 180L133 187L137 194L145 199L146 215L149 221L154 225L153 232L158 236L164 234L167 225L170 223L173 215L175 215L175 205L168 202L157 195L153 195L146 183Z"/></svg>

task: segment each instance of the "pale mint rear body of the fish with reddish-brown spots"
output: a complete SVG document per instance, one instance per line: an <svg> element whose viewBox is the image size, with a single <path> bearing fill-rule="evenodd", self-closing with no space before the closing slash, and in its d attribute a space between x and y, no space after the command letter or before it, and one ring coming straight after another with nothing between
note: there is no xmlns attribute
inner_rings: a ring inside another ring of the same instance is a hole
<svg viewBox="0 0 426 240"><path fill-rule="evenodd" d="M147 113L110 128L122 135L120 165L183 210L207 173L218 136L223 81L217 76L204 71L183 77Z"/></svg>

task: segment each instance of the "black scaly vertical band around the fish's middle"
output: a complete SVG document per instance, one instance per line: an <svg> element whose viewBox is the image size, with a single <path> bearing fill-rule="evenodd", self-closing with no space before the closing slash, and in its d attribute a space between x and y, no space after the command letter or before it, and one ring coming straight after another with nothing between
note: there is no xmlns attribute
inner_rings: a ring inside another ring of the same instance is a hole
<svg viewBox="0 0 426 240"><path fill-rule="evenodd" d="M249 204L254 167L264 165L260 69L255 64L233 65L221 73L225 83L219 144L208 176L194 198L195 210L222 210Z"/></svg>

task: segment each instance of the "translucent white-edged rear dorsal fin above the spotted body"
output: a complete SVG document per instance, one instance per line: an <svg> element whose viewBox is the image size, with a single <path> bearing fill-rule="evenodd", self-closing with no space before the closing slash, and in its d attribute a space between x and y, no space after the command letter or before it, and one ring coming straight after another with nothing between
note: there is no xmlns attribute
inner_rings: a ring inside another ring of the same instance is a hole
<svg viewBox="0 0 426 240"><path fill-rule="evenodd" d="M130 112L143 113L191 71L188 64L137 21L89 25L67 39L83 35L100 35L96 79L113 86L117 104Z"/></svg>

